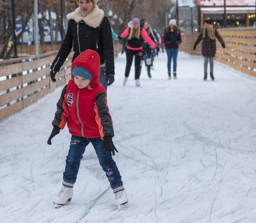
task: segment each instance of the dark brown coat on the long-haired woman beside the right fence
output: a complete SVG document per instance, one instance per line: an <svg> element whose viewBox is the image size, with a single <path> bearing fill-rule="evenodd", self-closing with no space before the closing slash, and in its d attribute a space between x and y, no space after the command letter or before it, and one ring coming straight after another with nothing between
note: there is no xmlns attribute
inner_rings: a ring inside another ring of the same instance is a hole
<svg viewBox="0 0 256 223"><path fill-rule="evenodd" d="M219 35L216 28L214 28L215 37L220 41L221 44L224 44L224 41L222 40L221 36ZM203 30L199 34L197 40L195 41L195 45L197 45L203 38ZM216 53L216 40L211 40L208 36L207 30L205 32L205 38L203 38L202 43L202 54L203 57L214 57Z"/></svg>

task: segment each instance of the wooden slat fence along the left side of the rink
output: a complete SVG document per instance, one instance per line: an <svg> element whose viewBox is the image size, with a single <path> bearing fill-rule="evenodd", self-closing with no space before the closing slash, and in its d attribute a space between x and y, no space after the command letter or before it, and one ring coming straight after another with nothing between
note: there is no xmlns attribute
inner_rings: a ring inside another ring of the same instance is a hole
<svg viewBox="0 0 256 223"><path fill-rule="evenodd" d="M114 45L114 56L121 52L122 45ZM0 121L38 101L49 92L64 85L71 78L71 52L61 70L56 73L56 82L50 78L50 66L58 50L38 56L20 57L0 61Z"/></svg>

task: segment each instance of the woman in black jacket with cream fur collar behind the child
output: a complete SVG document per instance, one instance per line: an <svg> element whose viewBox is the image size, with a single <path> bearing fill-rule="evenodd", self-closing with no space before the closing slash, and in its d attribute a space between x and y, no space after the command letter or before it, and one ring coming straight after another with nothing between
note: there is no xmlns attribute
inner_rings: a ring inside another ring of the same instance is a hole
<svg viewBox="0 0 256 223"><path fill-rule="evenodd" d="M72 62L83 51L90 49L99 54L101 70L99 82L107 89L114 82L114 49L109 20L97 6L98 0L77 0L79 8L67 15L68 28L60 50L51 65L51 79L65 62L72 47Z"/></svg>

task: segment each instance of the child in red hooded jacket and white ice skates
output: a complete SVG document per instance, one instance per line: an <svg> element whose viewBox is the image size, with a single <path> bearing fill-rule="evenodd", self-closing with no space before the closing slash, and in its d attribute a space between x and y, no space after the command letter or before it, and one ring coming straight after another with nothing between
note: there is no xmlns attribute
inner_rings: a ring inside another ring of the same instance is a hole
<svg viewBox="0 0 256 223"><path fill-rule="evenodd" d="M91 142L115 194L115 204L127 203L127 194L117 165L112 158L115 148L112 119L108 110L106 90L99 83L100 58L93 50L82 52L72 63L74 79L63 88L52 122L53 131L48 139L56 136L67 123L71 136L70 148L63 173L62 187L54 199L54 206L61 207L71 201L80 160Z"/></svg>

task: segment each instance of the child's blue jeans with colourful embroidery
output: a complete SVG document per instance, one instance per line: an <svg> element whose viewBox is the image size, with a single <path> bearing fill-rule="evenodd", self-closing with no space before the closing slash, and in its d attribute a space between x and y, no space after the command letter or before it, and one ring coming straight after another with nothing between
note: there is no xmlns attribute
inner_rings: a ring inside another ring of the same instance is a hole
<svg viewBox="0 0 256 223"><path fill-rule="evenodd" d="M99 159L103 171L106 173L106 177L110 182L111 188L115 188L123 184L121 175L118 171L117 165L112 156L109 156L106 149L101 150L103 140L99 138L84 138L79 136L71 136L70 147L66 160L65 172L63 173L63 181L74 185L77 179L77 173L80 166L80 160L83 158L83 154L86 146L89 143L93 144L96 155ZM87 177L87 180L90 178ZM70 186L73 187L73 186Z"/></svg>

